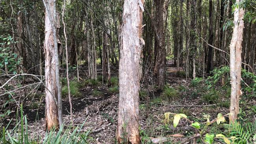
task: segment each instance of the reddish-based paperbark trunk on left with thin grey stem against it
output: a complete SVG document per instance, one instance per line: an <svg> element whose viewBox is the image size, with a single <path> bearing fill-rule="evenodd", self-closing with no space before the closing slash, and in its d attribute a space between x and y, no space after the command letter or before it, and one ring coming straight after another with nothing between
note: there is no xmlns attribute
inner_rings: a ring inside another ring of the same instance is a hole
<svg viewBox="0 0 256 144"><path fill-rule="evenodd" d="M61 85L59 81L59 59L56 27L56 1L43 0L45 5L45 120L46 129L63 124ZM55 20L55 21L53 21Z"/></svg>

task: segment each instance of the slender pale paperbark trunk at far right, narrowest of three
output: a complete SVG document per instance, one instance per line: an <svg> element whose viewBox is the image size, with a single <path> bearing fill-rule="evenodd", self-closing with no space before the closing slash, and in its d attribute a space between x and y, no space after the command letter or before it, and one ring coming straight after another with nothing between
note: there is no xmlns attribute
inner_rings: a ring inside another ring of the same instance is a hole
<svg viewBox="0 0 256 144"><path fill-rule="evenodd" d="M236 4L243 0L236 0ZM230 78L231 78L231 101L230 101L230 122L237 119L239 113L239 96L241 82L241 48L243 41L243 17L245 10L239 6L234 10L234 28L230 42Z"/></svg>

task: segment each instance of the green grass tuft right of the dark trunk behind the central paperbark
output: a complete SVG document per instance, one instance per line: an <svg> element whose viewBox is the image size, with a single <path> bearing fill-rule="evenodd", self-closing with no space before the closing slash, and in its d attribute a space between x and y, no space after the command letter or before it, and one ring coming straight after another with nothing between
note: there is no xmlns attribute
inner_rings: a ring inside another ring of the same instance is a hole
<svg viewBox="0 0 256 144"><path fill-rule="evenodd" d="M164 100L172 101L172 100L176 100L180 96L176 89L165 85L163 92L161 93L161 97Z"/></svg>

